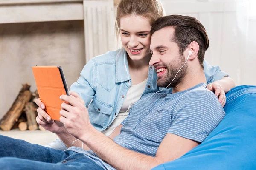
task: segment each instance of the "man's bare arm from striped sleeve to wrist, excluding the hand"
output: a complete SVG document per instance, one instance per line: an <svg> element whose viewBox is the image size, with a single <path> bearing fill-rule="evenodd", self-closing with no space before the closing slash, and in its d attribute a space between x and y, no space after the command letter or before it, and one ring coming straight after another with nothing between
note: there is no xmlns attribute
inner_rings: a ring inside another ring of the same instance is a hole
<svg viewBox="0 0 256 170"><path fill-rule="evenodd" d="M199 144L193 140L168 133L161 142L156 156L152 157L125 149L94 128L91 130L90 136L83 136L81 140L102 160L121 170L149 170L183 156Z"/></svg>

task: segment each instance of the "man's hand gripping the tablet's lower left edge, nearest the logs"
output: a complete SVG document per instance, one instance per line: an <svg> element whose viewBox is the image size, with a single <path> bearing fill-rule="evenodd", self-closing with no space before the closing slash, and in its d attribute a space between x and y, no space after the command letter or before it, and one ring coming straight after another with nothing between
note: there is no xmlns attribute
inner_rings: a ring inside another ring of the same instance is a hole
<svg viewBox="0 0 256 170"><path fill-rule="evenodd" d="M44 111L45 105L39 98L35 100L35 103L39 106L37 109L38 116L36 117L36 122L38 122L39 125L41 125L45 130L56 134L62 133L66 130L63 123L52 120Z"/></svg>

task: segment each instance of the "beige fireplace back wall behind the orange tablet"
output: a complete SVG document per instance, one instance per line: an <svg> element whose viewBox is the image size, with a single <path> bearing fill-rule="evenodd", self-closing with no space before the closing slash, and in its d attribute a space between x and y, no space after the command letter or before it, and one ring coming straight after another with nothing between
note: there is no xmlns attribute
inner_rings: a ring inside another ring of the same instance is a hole
<svg viewBox="0 0 256 170"><path fill-rule="evenodd" d="M22 84L29 82L35 91L32 66L62 66L70 87L84 67L84 55L82 20L0 24L0 119Z"/></svg>

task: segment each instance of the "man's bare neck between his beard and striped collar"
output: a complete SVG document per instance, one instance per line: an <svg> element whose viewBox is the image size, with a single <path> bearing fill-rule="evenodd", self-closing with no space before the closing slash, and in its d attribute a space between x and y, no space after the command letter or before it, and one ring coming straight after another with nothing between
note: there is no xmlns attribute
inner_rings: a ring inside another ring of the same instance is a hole
<svg viewBox="0 0 256 170"><path fill-rule="evenodd" d="M183 77L180 83L172 88L172 93L185 91L200 83L206 83L204 70L199 69L198 71L188 71L188 73Z"/></svg>

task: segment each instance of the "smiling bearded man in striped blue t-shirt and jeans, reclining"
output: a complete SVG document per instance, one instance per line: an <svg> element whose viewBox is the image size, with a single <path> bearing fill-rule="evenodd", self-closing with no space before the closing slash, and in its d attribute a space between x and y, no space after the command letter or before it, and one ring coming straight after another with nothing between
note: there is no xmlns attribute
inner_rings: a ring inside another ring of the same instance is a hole
<svg viewBox="0 0 256 170"><path fill-rule="evenodd" d="M205 84L205 28L193 17L172 15L159 18L151 34L150 65L157 71L157 85L172 87L172 93L143 96L116 128L119 135L113 140L93 128L78 94L63 95L70 105L62 105L61 122L91 150L54 150L0 136L0 156L18 157L1 158L0 168L147 170L203 142L225 115Z"/></svg>

